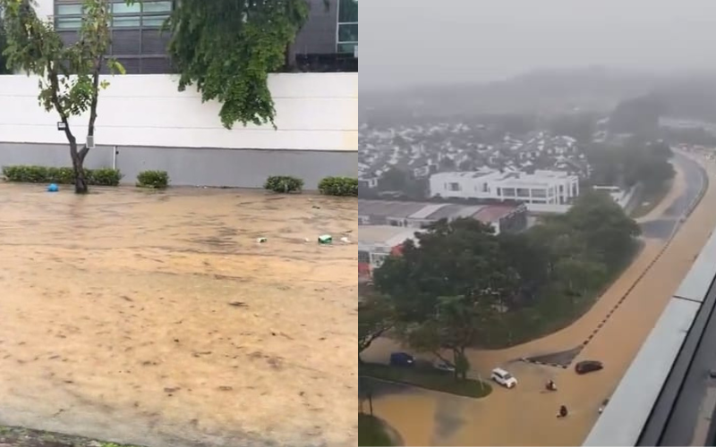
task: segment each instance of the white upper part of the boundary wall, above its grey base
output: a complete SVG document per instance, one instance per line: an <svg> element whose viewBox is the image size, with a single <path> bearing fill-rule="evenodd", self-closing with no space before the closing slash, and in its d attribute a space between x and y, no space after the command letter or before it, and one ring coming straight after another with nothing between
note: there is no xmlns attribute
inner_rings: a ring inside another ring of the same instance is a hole
<svg viewBox="0 0 716 447"><path fill-rule="evenodd" d="M358 150L358 73L286 73L269 77L277 110L271 126L227 131L220 105L201 104L193 88L179 93L171 75L107 77L100 94L96 144L167 148ZM53 111L38 105L38 80L0 76L0 142L66 144ZM78 141L86 116L72 118Z"/></svg>

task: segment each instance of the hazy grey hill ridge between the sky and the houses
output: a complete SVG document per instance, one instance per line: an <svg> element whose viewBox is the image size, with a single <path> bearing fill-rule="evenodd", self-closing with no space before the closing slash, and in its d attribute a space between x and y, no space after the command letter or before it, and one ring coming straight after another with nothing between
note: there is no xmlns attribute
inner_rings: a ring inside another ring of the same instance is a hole
<svg viewBox="0 0 716 447"><path fill-rule="evenodd" d="M716 76L667 77L601 68L530 72L484 84L361 92L361 122L482 114L609 113L622 101L650 97L660 114L716 121ZM653 104L650 101L644 103ZM370 121L369 121L370 120Z"/></svg>

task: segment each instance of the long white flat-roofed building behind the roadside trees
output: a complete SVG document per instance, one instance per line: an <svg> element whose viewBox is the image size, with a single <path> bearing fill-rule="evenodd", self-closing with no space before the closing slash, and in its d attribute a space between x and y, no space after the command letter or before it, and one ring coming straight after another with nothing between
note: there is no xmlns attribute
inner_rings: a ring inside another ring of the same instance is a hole
<svg viewBox="0 0 716 447"><path fill-rule="evenodd" d="M579 178L561 171L534 173L483 170L436 173L430 176L430 196L492 198L528 204L564 205L579 195Z"/></svg>

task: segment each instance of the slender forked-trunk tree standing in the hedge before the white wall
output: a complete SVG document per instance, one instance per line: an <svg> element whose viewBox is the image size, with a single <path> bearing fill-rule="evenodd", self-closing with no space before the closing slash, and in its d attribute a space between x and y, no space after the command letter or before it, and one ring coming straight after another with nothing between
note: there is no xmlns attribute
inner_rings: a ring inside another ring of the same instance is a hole
<svg viewBox="0 0 716 447"><path fill-rule="evenodd" d="M89 111L88 139L94 138L99 91L107 89L107 80L99 80L104 66L110 72L124 74L124 68L106 57L110 45L111 4L106 0L84 0L84 16L77 43L65 46L51 22L38 19L31 0L0 0L4 10L8 46L5 55L13 69L37 75L39 104L48 112L55 110L70 144L74 170L74 190L88 191L84 160L90 152L87 144L78 150L70 118Z"/></svg>

